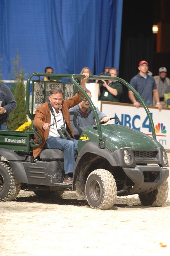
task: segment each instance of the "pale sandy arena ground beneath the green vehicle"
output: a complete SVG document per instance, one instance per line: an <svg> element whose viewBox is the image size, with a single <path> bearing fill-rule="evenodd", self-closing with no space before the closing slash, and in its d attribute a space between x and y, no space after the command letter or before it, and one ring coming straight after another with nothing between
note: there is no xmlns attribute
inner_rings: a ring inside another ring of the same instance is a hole
<svg viewBox="0 0 170 256"><path fill-rule="evenodd" d="M170 256L170 193L162 207L141 206L135 195L102 211L74 192L38 200L20 191L13 202L0 202L0 211L0 256Z"/></svg>

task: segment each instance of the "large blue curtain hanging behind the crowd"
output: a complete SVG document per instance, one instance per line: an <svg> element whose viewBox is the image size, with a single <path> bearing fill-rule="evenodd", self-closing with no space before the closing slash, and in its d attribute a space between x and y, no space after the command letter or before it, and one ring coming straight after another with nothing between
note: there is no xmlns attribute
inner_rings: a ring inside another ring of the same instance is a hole
<svg viewBox="0 0 170 256"><path fill-rule="evenodd" d="M12 59L28 77L55 73L100 74L119 68L123 0L0 0L0 67L12 79Z"/></svg>

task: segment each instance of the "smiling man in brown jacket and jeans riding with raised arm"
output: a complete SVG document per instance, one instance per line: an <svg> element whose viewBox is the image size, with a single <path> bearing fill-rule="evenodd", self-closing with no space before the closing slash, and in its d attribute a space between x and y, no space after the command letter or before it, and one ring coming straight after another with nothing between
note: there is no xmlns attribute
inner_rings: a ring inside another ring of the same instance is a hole
<svg viewBox="0 0 170 256"><path fill-rule="evenodd" d="M81 79L81 86L86 90L86 78ZM82 96L83 94L79 92ZM36 109L33 124L42 136L42 144L33 148L34 158L37 158L46 144L48 148L60 149L64 152L65 177L63 183L72 184L74 170L74 151L77 150L78 140L75 140L70 124L69 108L79 104L82 99L75 94L68 100L63 99L64 92L58 87L50 90L49 101ZM39 139L36 136L35 140Z"/></svg>

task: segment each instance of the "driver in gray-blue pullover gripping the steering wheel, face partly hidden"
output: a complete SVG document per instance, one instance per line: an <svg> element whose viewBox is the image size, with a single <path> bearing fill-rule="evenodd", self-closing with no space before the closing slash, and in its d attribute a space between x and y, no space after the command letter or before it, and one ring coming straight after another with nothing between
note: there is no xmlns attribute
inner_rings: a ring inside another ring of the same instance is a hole
<svg viewBox="0 0 170 256"><path fill-rule="evenodd" d="M88 96L91 98L91 92L89 90L86 90L86 92ZM97 108L96 111L100 122L108 122L110 120L110 117L100 112ZM82 100L82 102L80 102L78 105L74 106L73 108L70 108L69 112L71 126L73 128L74 136L77 140L79 139L82 131L87 126L96 124L93 111L90 108L90 104L88 103L88 101Z"/></svg>

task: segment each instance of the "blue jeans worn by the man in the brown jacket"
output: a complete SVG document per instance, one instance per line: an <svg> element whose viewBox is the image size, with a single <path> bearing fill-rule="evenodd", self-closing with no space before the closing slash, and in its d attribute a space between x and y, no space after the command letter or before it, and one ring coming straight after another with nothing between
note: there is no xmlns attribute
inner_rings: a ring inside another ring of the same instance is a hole
<svg viewBox="0 0 170 256"><path fill-rule="evenodd" d="M65 140L59 137L49 137L46 141L48 148L57 148L64 152L64 170L65 174L73 172L74 170L74 151L77 150L78 140L73 138Z"/></svg>

